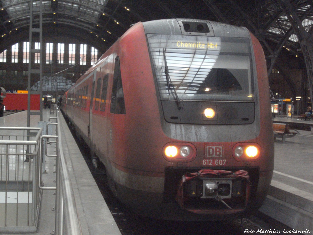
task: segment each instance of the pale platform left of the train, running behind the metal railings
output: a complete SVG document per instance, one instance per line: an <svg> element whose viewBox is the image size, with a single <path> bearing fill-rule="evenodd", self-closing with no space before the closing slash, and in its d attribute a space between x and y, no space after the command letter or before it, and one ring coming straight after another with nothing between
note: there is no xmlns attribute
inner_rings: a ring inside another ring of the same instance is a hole
<svg viewBox="0 0 313 235"><path fill-rule="evenodd" d="M59 112L59 111L57 111ZM115 220L105 203L88 166L75 143L75 140L61 114L58 113L61 125L62 147L69 169L76 208L80 220L82 234L121 234ZM43 110L43 121L48 122L50 117L56 117L56 112L50 114L50 109ZM37 127L39 116L31 116L30 126ZM26 127L27 111L17 112L0 118L1 127ZM43 174L44 186L55 186L55 158L46 157ZM82 177L84 176L84 177ZM38 235L53 234L55 230L55 193L53 190L43 190L39 212ZM1 233L11 234L11 233ZM13 233L12 233L13 234ZM14 233L25 234L25 233Z"/></svg>

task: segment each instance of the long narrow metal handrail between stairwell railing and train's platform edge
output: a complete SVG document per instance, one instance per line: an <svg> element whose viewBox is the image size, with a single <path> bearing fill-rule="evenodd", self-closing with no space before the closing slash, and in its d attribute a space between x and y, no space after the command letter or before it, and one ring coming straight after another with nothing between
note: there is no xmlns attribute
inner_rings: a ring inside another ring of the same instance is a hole
<svg viewBox="0 0 313 235"><path fill-rule="evenodd" d="M55 202L55 230L51 234L82 234L80 227L80 220L77 214L76 203L74 198L74 191L72 188L71 180L69 178L69 171L67 163L63 154L62 148L62 137L60 135L61 130L59 123L59 118L57 123L47 123L48 125L56 125L57 135L43 135L40 138L40 143L44 143L44 139L47 144L56 143L56 155L48 154L47 147L46 152L43 152L43 144L40 144L39 152L46 157L56 157L56 187L44 187L43 183L39 185L40 189L43 190L56 190L56 202ZM49 119L50 121L50 119ZM55 139L56 141L51 141L49 139ZM41 180L41 161L39 162L38 169L39 173L39 182Z"/></svg>

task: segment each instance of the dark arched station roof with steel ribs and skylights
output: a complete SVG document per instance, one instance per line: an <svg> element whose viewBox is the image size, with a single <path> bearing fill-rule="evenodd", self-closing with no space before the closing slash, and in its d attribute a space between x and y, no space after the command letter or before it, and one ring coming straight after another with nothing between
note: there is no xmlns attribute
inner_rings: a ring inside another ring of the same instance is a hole
<svg viewBox="0 0 313 235"><path fill-rule="evenodd" d="M313 99L312 0L42 0L43 35L79 39L104 53L131 24L196 18L248 28L261 42L268 72L284 58L300 60ZM0 0L0 52L29 38L30 4L38 24L39 0ZM38 12L38 13L36 13ZM280 57L280 60L277 58ZM293 66L293 60L285 60ZM288 76L287 82L288 82ZM291 78L290 78L291 79ZM295 89L288 82L293 96Z"/></svg>

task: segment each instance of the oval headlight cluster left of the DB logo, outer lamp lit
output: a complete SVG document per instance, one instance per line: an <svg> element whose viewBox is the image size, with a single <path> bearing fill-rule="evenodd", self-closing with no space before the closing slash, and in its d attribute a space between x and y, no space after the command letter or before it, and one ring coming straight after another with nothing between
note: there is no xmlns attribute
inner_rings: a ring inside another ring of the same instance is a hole
<svg viewBox="0 0 313 235"><path fill-rule="evenodd" d="M197 149L191 143L167 143L162 149L162 155L170 162L191 162L197 156Z"/></svg>

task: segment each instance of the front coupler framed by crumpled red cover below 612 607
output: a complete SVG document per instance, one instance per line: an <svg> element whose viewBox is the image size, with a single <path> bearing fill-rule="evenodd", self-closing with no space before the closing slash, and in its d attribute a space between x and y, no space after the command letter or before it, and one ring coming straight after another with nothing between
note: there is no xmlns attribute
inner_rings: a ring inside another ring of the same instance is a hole
<svg viewBox="0 0 313 235"><path fill-rule="evenodd" d="M250 181L247 171L200 170L182 176L176 201L182 209L218 209L221 202L228 209L233 203L244 207L249 198ZM215 203L214 203L215 201Z"/></svg>

